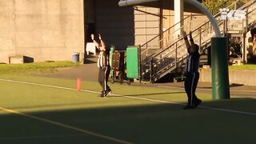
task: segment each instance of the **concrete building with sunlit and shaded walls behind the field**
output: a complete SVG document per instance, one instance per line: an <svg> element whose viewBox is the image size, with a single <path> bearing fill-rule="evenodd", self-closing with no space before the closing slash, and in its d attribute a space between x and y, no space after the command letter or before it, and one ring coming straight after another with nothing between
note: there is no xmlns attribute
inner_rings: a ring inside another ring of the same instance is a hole
<svg viewBox="0 0 256 144"><path fill-rule="evenodd" d="M0 62L24 56L27 62L83 61L90 34L102 34L117 50L142 45L174 25L174 1L118 6L119 0L1 0ZM204 20L193 6L184 17ZM200 22L199 22L200 23ZM196 26L196 23L193 24Z"/></svg>

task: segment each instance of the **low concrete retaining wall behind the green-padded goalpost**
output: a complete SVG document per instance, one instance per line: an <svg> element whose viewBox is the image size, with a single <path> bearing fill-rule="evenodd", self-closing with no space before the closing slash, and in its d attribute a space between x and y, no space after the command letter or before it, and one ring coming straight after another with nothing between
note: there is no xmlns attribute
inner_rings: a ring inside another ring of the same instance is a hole
<svg viewBox="0 0 256 144"><path fill-rule="evenodd" d="M229 70L230 84L256 86L256 70ZM211 69L200 69L200 82L211 82Z"/></svg>

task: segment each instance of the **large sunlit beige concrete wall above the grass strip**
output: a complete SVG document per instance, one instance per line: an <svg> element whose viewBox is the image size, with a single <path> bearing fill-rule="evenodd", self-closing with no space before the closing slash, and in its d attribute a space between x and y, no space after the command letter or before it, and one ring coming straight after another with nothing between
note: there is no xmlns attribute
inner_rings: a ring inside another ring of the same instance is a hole
<svg viewBox="0 0 256 144"><path fill-rule="evenodd" d="M84 53L83 0L1 0L0 62L26 55L34 62Z"/></svg>

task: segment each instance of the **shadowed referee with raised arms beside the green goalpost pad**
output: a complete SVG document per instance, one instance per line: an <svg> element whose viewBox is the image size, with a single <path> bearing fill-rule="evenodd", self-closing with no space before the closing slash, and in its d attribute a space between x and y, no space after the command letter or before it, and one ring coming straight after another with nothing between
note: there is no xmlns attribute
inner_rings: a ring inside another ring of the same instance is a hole
<svg viewBox="0 0 256 144"><path fill-rule="evenodd" d="M190 32L190 42L188 41L185 31L183 31L183 37L186 43L187 52L189 54L186 60L186 69L185 69L186 80L184 83L188 102L184 108L193 109L202 102L202 100L195 95L195 90L198 86L198 79L199 79L199 73L198 73L199 57L200 57L200 54L198 52L199 46L194 44L194 40L192 38L191 32Z"/></svg>

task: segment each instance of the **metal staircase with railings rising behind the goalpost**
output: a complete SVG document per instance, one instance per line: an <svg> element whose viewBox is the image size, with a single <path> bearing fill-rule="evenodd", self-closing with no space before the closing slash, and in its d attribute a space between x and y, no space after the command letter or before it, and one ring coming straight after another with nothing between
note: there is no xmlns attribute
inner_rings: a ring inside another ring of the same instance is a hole
<svg viewBox="0 0 256 144"><path fill-rule="evenodd" d="M246 18L233 22L225 20L218 20L218 26L221 33L224 35L228 31L238 30L239 33L246 33L255 26L256 20L256 0L251 0L243 6L239 6L238 2L234 2L228 6L230 10L246 10ZM216 14L214 18L218 19L220 13ZM215 33L210 21L203 23L194 29L191 29L190 23L192 18L186 17L182 20L184 26L179 30L191 31L194 42L198 44L200 50L206 49L210 46L210 39L214 37ZM177 25L177 24L176 24ZM229 29L227 29L229 28ZM142 81L156 82L171 71L182 67L187 58L186 46L183 37L171 38L175 31L174 26L162 32L149 42L141 46L141 78ZM159 49L160 47L160 49ZM156 50L157 49L157 50Z"/></svg>

